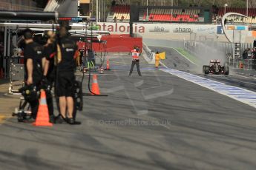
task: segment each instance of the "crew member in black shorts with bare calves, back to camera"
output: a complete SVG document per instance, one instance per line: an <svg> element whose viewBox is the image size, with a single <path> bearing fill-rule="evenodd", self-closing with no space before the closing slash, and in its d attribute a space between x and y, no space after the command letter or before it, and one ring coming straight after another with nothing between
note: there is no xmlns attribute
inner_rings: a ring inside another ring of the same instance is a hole
<svg viewBox="0 0 256 170"><path fill-rule="evenodd" d="M68 36L68 27L60 27L56 54L58 61L56 95L59 97L60 114L70 124L76 124L73 118L76 52L77 46L74 41L70 40L70 36ZM66 115L67 110L68 114Z"/></svg>

